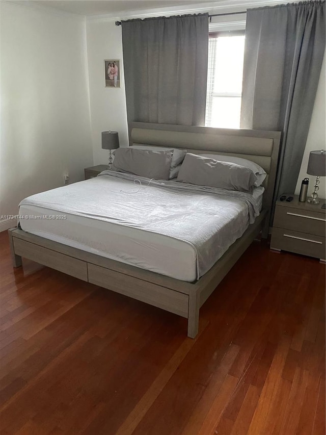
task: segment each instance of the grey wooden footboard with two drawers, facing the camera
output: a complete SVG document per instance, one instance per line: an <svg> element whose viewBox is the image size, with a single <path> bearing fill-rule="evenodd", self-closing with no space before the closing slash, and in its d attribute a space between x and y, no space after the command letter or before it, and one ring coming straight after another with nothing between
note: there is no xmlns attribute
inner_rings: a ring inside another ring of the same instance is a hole
<svg viewBox="0 0 326 435"><path fill-rule="evenodd" d="M18 228L9 229L9 240L14 267L22 265L23 257L187 319L190 305L190 317L197 316L197 319L188 325L188 336L197 335L199 308L195 313L193 303L189 302L189 299L193 300L196 285L106 259Z"/></svg>

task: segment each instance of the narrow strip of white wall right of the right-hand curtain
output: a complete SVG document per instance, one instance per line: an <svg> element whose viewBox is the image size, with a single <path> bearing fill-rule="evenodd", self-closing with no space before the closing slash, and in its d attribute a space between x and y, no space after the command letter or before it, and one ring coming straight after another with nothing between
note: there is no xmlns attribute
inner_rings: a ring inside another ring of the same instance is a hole
<svg viewBox="0 0 326 435"><path fill-rule="evenodd" d="M299 177L297 180L297 185L295 189L295 193L300 192L301 182L305 177L309 178L309 189L308 194L310 195L313 192L314 184L316 177L313 175L307 175L307 166L309 159L309 152L316 149L325 149L326 150L326 111L325 111L325 96L326 96L326 88L325 88L325 62L326 62L326 54L324 55L324 59L321 66L320 71L320 79L317 89L317 95L315 99L314 109L312 112L312 118L310 122L310 129L306 142L306 149L304 153L304 157L302 160L302 165L299 173ZM320 178L319 191L318 196L320 198L326 198L326 178Z"/></svg>

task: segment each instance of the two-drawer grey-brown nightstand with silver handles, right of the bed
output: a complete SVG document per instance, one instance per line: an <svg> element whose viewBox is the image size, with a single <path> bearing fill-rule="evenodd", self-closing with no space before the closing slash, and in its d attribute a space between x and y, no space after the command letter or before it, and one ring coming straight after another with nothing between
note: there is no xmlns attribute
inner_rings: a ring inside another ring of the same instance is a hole
<svg viewBox="0 0 326 435"><path fill-rule="evenodd" d="M316 257L325 261L326 210L322 209L324 199L319 204L300 202L298 195L291 202L276 202L271 234L270 249L284 250Z"/></svg>

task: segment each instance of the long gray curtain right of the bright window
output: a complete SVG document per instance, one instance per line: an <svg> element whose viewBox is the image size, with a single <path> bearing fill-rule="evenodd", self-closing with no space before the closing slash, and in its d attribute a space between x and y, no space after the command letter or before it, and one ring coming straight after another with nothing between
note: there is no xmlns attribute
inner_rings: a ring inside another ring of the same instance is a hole
<svg viewBox="0 0 326 435"><path fill-rule="evenodd" d="M247 11L240 126L282 132L275 197L294 193L324 50L324 1Z"/></svg>

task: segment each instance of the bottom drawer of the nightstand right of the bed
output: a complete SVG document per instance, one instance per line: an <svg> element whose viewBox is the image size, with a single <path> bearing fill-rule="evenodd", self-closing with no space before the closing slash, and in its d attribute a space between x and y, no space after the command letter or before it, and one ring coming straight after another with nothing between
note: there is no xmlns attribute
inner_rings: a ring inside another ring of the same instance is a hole
<svg viewBox="0 0 326 435"><path fill-rule="evenodd" d="M324 237L290 231L284 228L273 228L270 248L296 252L322 260L325 259L326 246Z"/></svg>

